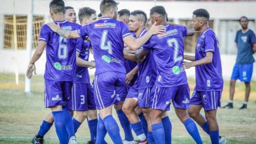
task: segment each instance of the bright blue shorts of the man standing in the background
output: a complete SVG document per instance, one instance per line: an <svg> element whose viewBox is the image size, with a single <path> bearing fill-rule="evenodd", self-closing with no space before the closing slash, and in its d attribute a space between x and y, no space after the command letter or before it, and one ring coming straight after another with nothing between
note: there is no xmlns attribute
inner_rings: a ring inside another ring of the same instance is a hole
<svg viewBox="0 0 256 144"><path fill-rule="evenodd" d="M250 82L253 75L253 63L250 64L236 64L232 72L231 79L240 79L242 82Z"/></svg>

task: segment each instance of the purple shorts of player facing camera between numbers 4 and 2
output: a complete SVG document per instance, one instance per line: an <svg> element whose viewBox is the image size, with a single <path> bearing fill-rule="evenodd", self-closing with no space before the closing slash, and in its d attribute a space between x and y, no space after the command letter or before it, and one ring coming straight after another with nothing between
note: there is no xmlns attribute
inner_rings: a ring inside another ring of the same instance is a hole
<svg viewBox="0 0 256 144"><path fill-rule="evenodd" d="M149 107L151 88L136 89L130 88L126 98L135 98L138 101L138 106L141 108Z"/></svg>

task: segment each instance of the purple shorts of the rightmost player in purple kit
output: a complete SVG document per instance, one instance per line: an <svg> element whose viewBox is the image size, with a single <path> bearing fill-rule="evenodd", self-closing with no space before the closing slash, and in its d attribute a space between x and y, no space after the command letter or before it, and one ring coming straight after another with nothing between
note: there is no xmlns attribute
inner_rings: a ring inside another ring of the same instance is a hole
<svg viewBox="0 0 256 144"><path fill-rule="evenodd" d="M205 111L221 107L222 91L194 91L190 105L202 105Z"/></svg>

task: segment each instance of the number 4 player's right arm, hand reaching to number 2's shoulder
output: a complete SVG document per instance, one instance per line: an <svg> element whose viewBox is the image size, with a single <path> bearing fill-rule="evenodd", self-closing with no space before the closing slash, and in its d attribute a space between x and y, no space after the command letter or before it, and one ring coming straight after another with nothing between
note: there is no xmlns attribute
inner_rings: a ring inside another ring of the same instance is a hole
<svg viewBox="0 0 256 144"><path fill-rule="evenodd" d="M137 50L142 46L152 35L156 35L158 33L165 33L165 27L164 26L156 26L156 23L153 24L148 32L146 32L142 37L135 39L132 35L128 35L127 37L123 38L123 41L131 50Z"/></svg>

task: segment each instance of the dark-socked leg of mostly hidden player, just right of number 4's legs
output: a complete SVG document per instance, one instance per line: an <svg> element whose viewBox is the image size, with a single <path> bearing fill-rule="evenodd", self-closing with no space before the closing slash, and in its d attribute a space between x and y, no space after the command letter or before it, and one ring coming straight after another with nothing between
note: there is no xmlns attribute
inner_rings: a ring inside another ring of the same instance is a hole
<svg viewBox="0 0 256 144"><path fill-rule="evenodd" d="M129 91L129 88L125 86L125 89L123 89L123 95L119 96L119 103L118 105L114 105L117 113L117 117L119 119L119 122L121 124L121 127L123 128L123 132L125 133L125 142L133 141L133 133L131 132L131 124L129 122L129 119L126 117L125 113L122 110L123 103L125 101L125 98L127 96L127 93Z"/></svg>

